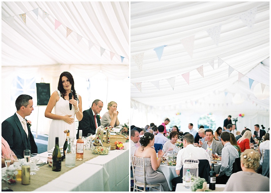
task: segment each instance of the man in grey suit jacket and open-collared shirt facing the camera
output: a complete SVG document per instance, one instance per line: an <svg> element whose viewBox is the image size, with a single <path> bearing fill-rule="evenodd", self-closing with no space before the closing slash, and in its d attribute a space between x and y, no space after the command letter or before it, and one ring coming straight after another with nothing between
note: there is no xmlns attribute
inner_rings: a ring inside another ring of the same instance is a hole
<svg viewBox="0 0 271 193"><path fill-rule="evenodd" d="M205 137L207 141L204 141L202 144L202 148L212 149L212 153L217 153L219 156L221 156L222 148L224 147L221 142L214 140L214 131L211 129L206 129L205 131Z"/></svg>

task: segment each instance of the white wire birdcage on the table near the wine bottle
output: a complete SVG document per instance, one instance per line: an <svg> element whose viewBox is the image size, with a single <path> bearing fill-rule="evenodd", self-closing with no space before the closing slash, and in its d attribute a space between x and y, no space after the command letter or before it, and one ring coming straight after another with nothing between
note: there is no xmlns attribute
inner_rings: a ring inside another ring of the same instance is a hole
<svg viewBox="0 0 271 193"><path fill-rule="evenodd" d="M183 167L183 172L182 172L183 178L185 177L185 173L187 172L187 169L190 170L192 179L196 180L199 177L199 160L193 159L192 153L190 153L190 156L188 159L184 160L182 167ZM182 183L185 186L185 180L183 180Z"/></svg>

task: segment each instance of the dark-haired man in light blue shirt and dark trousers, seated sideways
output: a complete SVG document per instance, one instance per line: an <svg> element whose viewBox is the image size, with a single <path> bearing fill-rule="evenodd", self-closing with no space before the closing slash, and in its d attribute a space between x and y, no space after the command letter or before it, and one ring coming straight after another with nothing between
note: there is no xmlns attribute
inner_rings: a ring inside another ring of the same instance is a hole
<svg viewBox="0 0 271 193"><path fill-rule="evenodd" d="M239 158L239 155L236 148L230 143L231 135L229 132L222 132L220 137L224 148L222 149L220 172L216 175L216 184L226 184L232 174L235 158Z"/></svg>

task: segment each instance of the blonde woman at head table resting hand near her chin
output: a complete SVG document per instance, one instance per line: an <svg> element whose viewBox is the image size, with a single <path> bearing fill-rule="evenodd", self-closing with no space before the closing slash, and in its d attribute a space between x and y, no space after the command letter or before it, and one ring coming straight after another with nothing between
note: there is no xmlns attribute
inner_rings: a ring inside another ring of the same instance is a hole
<svg viewBox="0 0 271 193"><path fill-rule="evenodd" d="M117 103L111 101L107 104L107 112L101 118L101 125L104 127L116 127L119 125Z"/></svg>

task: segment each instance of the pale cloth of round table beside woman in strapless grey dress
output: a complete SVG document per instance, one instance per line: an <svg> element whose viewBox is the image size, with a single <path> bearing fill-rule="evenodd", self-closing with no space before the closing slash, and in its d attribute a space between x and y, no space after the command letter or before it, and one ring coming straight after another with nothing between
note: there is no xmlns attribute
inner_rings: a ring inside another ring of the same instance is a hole
<svg viewBox="0 0 271 193"><path fill-rule="evenodd" d="M216 174L219 173L221 167L221 162L217 162L217 164L214 165L214 170ZM157 172L161 172L165 175L167 179L167 184L170 190L172 190L172 183L171 180L175 177L178 177L176 174L175 166L169 166L167 164L160 164L160 167L157 169Z"/></svg>

